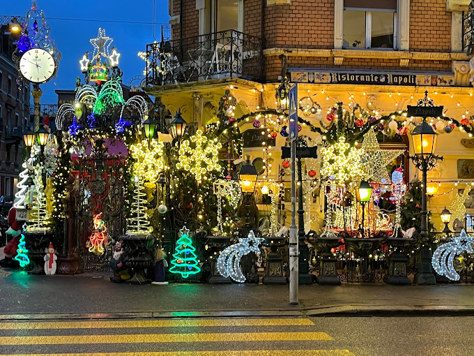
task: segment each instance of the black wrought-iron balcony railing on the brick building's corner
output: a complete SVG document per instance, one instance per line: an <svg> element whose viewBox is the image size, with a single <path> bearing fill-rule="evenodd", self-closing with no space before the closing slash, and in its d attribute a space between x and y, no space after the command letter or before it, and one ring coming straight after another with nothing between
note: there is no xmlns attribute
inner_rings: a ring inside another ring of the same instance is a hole
<svg viewBox="0 0 474 356"><path fill-rule="evenodd" d="M263 41L235 30L146 46L146 85L226 77L263 79Z"/></svg>

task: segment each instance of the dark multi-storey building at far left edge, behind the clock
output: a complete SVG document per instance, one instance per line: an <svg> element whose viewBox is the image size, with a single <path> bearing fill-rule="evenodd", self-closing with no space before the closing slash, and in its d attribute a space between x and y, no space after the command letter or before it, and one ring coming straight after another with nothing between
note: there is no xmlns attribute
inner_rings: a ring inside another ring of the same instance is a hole
<svg viewBox="0 0 474 356"><path fill-rule="evenodd" d="M22 165L23 131L29 123L30 88L12 60L15 36L8 24L0 27L0 195L17 191Z"/></svg>

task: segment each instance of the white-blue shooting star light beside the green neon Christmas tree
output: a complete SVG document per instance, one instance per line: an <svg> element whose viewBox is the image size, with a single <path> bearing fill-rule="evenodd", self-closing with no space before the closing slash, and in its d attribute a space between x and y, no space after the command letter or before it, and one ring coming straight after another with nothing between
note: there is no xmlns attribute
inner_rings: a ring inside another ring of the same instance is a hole
<svg viewBox="0 0 474 356"><path fill-rule="evenodd" d="M238 239L237 244L233 244L222 251L219 258L217 258L217 269L221 276L230 277L236 282L244 283L245 276L240 268L240 259L250 252L259 255L259 244L263 240L261 237L255 237L253 230L250 230L248 237Z"/></svg>

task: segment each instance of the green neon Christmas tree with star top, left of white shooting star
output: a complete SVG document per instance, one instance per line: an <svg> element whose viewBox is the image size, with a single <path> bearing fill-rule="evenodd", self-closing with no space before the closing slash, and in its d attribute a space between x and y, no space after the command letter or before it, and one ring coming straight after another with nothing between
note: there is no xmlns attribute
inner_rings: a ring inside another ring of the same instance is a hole
<svg viewBox="0 0 474 356"><path fill-rule="evenodd" d="M169 272L180 273L183 278L188 278L190 274L201 272L201 268L197 265L197 255L194 253L196 249L192 246L192 239L189 235L190 230L183 226L179 230L179 239L176 241L176 253L171 260L171 268Z"/></svg>

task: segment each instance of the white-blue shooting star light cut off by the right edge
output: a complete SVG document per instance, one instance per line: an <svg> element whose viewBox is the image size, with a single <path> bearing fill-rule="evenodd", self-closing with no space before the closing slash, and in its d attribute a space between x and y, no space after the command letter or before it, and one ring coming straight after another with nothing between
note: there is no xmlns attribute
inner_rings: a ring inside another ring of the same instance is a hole
<svg viewBox="0 0 474 356"><path fill-rule="evenodd" d="M459 281L459 274L454 269L454 257L464 251L473 253L474 237L468 236L466 230L462 230L459 236L455 236L450 242L442 244L433 253L431 265L440 276L447 276L451 281Z"/></svg>

